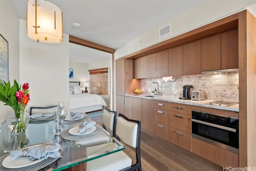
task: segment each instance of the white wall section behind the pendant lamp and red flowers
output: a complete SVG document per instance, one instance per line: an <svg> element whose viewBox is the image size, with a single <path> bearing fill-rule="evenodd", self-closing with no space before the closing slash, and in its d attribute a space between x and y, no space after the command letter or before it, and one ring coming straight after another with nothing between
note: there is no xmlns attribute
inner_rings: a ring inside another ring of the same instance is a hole
<svg viewBox="0 0 256 171"><path fill-rule="evenodd" d="M27 36L26 21L20 20L20 82L30 84L30 106L56 105L69 109L68 35L63 42L46 44Z"/></svg>

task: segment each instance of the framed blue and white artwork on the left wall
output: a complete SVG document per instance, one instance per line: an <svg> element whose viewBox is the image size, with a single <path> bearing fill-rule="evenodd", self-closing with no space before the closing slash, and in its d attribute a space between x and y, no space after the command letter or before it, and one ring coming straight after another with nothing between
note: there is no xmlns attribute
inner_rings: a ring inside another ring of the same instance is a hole
<svg viewBox="0 0 256 171"><path fill-rule="evenodd" d="M2 34L0 34L0 78L8 82L8 76L8 42Z"/></svg>

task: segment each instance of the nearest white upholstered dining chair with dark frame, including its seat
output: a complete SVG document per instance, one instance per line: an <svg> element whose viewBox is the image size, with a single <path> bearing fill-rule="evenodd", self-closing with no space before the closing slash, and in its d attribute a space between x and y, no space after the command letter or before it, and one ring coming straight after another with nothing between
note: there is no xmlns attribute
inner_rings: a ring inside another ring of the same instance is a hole
<svg viewBox="0 0 256 171"><path fill-rule="evenodd" d="M117 139L130 147L136 148L136 163L123 151L118 151L87 162L87 171L141 171L140 159L140 127L141 121L129 119L119 113L116 125ZM90 148L90 147L89 147ZM98 147L92 147L98 149ZM100 147L99 147L100 148ZM90 149L89 149L90 150Z"/></svg>

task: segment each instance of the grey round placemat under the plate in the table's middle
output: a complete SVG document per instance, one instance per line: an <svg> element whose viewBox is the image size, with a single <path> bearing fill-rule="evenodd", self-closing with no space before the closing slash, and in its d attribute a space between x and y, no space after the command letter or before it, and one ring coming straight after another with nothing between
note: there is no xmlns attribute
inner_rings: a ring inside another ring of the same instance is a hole
<svg viewBox="0 0 256 171"><path fill-rule="evenodd" d="M63 139L66 140L71 140L71 141L76 141L76 140L82 140L82 139L88 139L91 137L95 137L97 135L99 135L103 130L102 127L98 126L98 125L94 125L96 127L96 129L94 131L92 131L91 133L87 133L87 134L83 134L83 135L72 135L70 134L68 131L69 129L63 131L60 136ZM72 128L70 128L72 129Z"/></svg>

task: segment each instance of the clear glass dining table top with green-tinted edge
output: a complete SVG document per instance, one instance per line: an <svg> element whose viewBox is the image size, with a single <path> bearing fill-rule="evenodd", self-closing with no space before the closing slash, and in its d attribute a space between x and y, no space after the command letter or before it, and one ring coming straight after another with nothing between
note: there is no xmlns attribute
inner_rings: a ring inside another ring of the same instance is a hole
<svg viewBox="0 0 256 171"><path fill-rule="evenodd" d="M87 116L87 115L86 115ZM88 116L87 116L88 117ZM90 119L88 117L88 119ZM73 124L69 124L66 122L64 127L68 130L72 127L80 125L81 122L76 122ZM115 153L117 151L123 150L125 147L120 141L111 137L111 135L105 131L100 125L97 125L100 129L102 129L102 133L97 136L104 136L104 141L100 140L99 137L89 137L88 139L71 141L63 139L61 135L54 135L54 120L47 120L47 122L43 123L29 123L26 129L26 136L23 139L24 147L35 145L38 143L46 143L49 141L53 141L54 143L59 143L63 147L62 157L47 165L41 169L37 170L48 170L48 171L60 171L63 169L68 169L70 167L74 167L79 165L80 163L85 163L87 161L97 159L99 157L103 157L105 155L109 155L111 153ZM0 132L0 165L2 166L2 160L9 153L3 152L2 145L2 132L8 130L8 124L5 122L2 125L2 131ZM68 139L68 138L67 138ZM90 143L87 143L87 140ZM104 145L102 151L93 151L94 145ZM24 168L26 171L29 169ZM2 170L2 168L1 168ZM8 170L8 169L6 169Z"/></svg>

